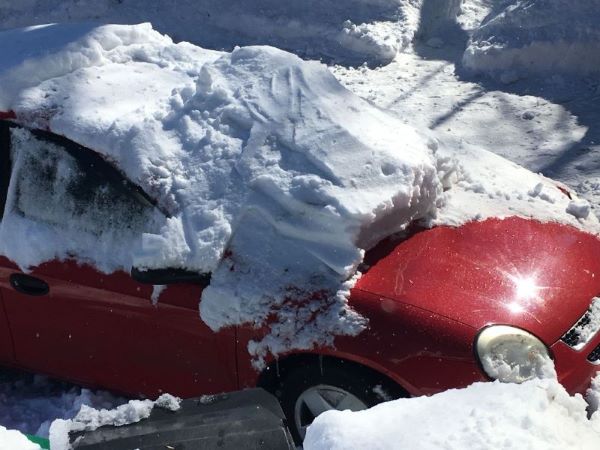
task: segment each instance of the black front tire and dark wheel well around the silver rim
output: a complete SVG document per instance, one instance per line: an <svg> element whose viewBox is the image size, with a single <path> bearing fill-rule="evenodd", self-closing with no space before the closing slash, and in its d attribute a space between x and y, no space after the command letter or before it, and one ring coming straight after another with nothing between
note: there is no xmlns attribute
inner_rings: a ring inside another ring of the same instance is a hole
<svg viewBox="0 0 600 450"><path fill-rule="evenodd" d="M366 408L383 401L407 396L403 389L387 378L370 369L345 361L327 359L292 368L279 383L275 395L279 398L296 444L301 444L304 438L296 417L297 406L302 424L306 425L314 419L310 411L306 413L303 411L300 406L302 402L297 405L298 400L311 389L314 391L325 387L327 390L328 386L351 394L364 403ZM338 395L335 391L332 394Z"/></svg>

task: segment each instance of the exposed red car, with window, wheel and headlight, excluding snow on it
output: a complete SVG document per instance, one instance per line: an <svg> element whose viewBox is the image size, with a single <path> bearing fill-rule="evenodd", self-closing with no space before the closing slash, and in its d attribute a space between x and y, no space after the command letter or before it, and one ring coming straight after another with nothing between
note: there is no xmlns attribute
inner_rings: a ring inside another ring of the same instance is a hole
<svg viewBox="0 0 600 450"><path fill-rule="evenodd" d="M0 207L9 182L14 204L32 220L64 220L58 203L85 208L87 190L153 208L141 189L98 154L45 131L81 170L76 189L53 198L52 164L11 167L11 121L0 125ZM73 148L77 151L73 151ZM54 177L54 178L53 178ZM12 181L11 181L12 178ZM23 200L23 201L21 201ZM101 227L102 223L90 224ZM263 386L282 402L295 437L328 409L361 409L398 396L433 394L499 376L485 365L501 359L520 379L534 374L535 356L554 359L559 380L583 392L600 362L600 240L573 227L518 217L458 228L413 230L367 254L351 306L369 319L356 337L335 347L271 359L261 371L247 351L261 331L212 332L198 314L209 275L161 270L106 275L74 261L49 262L23 273L0 258L0 363L130 395L182 397ZM152 285L168 285L158 294ZM484 368L485 367L485 368ZM516 371L516 372L515 372Z"/></svg>

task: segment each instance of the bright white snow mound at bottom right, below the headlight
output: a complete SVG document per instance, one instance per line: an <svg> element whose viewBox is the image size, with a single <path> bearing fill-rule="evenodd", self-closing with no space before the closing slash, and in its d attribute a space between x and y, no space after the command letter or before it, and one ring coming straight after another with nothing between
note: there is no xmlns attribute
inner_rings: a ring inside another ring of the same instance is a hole
<svg viewBox="0 0 600 450"><path fill-rule="evenodd" d="M597 449L600 415L551 379L475 383L361 412L328 411L308 428L306 450Z"/></svg>

